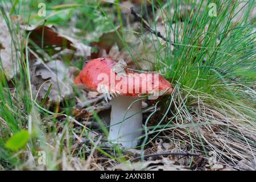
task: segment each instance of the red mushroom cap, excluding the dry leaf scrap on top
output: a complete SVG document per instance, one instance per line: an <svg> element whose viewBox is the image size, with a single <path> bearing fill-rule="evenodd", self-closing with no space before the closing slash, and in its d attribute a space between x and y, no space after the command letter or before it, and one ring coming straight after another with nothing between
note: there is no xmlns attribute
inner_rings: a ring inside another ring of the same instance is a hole
<svg viewBox="0 0 256 182"><path fill-rule="evenodd" d="M140 94L172 93L172 85L159 73L136 73L124 69L125 75L114 71L118 64L108 57L90 60L75 79L76 85L84 85L86 89L99 91L105 89L109 93L122 96L138 97ZM103 79L103 77L107 79ZM114 87L113 87L114 84Z"/></svg>

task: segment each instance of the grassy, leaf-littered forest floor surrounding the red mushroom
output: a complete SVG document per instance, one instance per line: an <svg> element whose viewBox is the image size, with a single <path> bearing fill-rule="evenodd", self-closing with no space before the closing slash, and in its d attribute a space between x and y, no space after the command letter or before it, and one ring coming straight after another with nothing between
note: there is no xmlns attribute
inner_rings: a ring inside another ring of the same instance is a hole
<svg viewBox="0 0 256 182"><path fill-rule="evenodd" d="M255 170L255 9L0 1L0 169ZM98 57L172 84L170 96L143 99L137 147L108 142L111 101L74 84Z"/></svg>

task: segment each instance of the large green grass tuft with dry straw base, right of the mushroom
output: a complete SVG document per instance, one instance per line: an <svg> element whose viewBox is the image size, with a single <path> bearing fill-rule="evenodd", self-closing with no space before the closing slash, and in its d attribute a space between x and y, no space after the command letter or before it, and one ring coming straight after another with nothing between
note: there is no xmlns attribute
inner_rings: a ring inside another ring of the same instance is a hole
<svg viewBox="0 0 256 182"><path fill-rule="evenodd" d="M184 6L182 2L168 2L160 10L166 15L166 35L174 34L175 46L169 51L170 43L152 42L159 47L156 68L179 85L172 94L175 109L168 117L177 128L164 131L164 138L180 150L189 144L206 156L214 151L218 163L236 166L241 159L255 160L255 90L250 89L255 84L255 20L249 18L250 7L255 5L216 1L218 14L210 17L208 4L190 3L193 11L185 13L180 24L177 17L165 13L173 6ZM243 9L246 13L233 23ZM178 8L175 11L182 13ZM178 22L175 27L173 22ZM191 127L181 129L185 123L193 123L193 135ZM185 142L181 145L180 141Z"/></svg>

